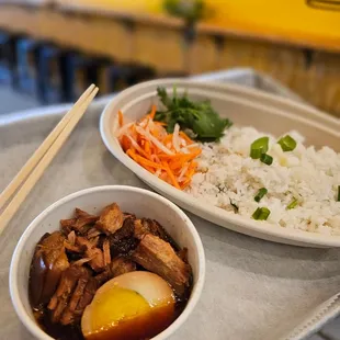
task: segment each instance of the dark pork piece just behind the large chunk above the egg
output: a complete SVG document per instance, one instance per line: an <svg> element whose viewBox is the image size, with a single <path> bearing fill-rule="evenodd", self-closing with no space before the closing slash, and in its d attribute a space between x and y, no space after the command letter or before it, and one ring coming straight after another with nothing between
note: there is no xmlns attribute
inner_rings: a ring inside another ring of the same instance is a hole
<svg viewBox="0 0 340 340"><path fill-rule="evenodd" d="M175 250L179 249L175 241L172 239L172 237L166 231L166 229L155 219L149 218L141 218L135 220L135 238L141 239L144 235L146 234L152 234L155 236L158 236L166 242L169 242L172 248Z"/></svg>

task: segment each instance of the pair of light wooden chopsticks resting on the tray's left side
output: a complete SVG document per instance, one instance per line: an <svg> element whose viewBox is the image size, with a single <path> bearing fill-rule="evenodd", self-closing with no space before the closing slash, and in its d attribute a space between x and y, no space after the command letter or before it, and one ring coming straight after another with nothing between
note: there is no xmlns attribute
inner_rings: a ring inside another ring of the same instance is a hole
<svg viewBox="0 0 340 340"><path fill-rule="evenodd" d="M75 129L98 91L99 89L94 84L88 88L18 172L11 183L3 190L0 195L0 211L22 185L0 215L0 235Z"/></svg>

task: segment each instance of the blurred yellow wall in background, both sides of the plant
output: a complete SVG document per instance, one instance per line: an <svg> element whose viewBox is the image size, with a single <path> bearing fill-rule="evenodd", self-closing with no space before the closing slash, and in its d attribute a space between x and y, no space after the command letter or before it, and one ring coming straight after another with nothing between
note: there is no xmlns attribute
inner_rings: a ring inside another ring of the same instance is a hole
<svg viewBox="0 0 340 340"><path fill-rule="evenodd" d="M65 1L65 0L64 0ZM340 11L313 8L308 0L206 0L214 16L206 23L219 29L292 38L315 45L339 46ZM309 0L317 3L318 0ZM332 0L337 2L337 0ZM106 9L160 14L162 0L68 0ZM340 2L338 1L340 10ZM332 7L333 9L337 5Z"/></svg>

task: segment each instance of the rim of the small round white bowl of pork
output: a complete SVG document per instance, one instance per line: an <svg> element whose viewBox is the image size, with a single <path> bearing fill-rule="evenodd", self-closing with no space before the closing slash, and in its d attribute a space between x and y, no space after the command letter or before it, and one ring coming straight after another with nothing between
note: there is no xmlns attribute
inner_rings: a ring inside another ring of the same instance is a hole
<svg viewBox="0 0 340 340"><path fill-rule="evenodd" d="M39 224L39 222L48 215L52 211L54 211L56 207L71 201L72 199L93 193L93 192L101 192L101 191L129 191L129 192L138 192L148 196L151 196L156 200L159 200L163 202L165 204L169 205L178 215L182 217L182 219L185 222L189 231L192 234L194 243L196 246L197 250L197 257L199 257L199 274L197 274L197 281L195 285L193 286L193 291L191 293L190 299L184 308L184 310L181 313L181 315L161 333L157 335L152 338L152 340L163 340L173 335L188 319L188 317L191 315L193 309L195 308L203 291L203 285L205 281L205 253L202 240L200 238L200 235L194 227L191 219L186 216L186 214L178 207L174 203L169 201L168 199L154 193L151 191L148 191L146 189L136 188L136 186L129 186L129 185L102 185L102 186L94 186L94 188L88 188L75 193L71 193L57 202L49 205L46 209L44 209L38 216L36 216L29 227L25 229L23 235L21 236L15 250L12 256L11 264L10 264L10 274L9 274L9 286L10 286L10 296L12 304L14 306L15 313L21 320L21 322L27 328L27 330L37 339L43 340L54 340L52 337L49 337L46 332L44 332L41 327L31 319L31 317L27 316L25 308L23 306L23 303L20 299L19 288L18 288L18 267L19 262L22 258L24 245L26 240L32 236L33 230L35 227Z"/></svg>

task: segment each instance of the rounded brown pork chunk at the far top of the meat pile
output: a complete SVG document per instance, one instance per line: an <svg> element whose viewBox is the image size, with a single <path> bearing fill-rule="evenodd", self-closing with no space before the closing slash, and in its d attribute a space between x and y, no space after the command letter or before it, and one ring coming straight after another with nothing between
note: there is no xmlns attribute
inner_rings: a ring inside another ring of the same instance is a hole
<svg viewBox="0 0 340 340"><path fill-rule="evenodd" d="M95 226L106 235L111 235L122 228L123 220L122 211L116 203L113 203L104 207Z"/></svg>

